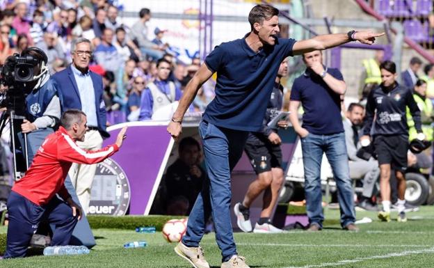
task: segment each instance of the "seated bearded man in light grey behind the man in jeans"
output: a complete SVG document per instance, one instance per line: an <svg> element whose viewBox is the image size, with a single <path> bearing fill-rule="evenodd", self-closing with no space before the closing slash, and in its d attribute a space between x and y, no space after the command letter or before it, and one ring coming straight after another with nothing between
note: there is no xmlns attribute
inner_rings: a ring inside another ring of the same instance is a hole
<svg viewBox="0 0 434 268"><path fill-rule="evenodd" d="M346 111L344 119L345 143L348 152L350 166L350 177L353 179L363 178L363 193L357 204L364 210L377 211L376 205L370 201L373 190L380 174L378 162L374 159L366 161L357 157L357 143L359 141L358 126L362 124L364 116L364 107L358 103L351 103Z"/></svg>

